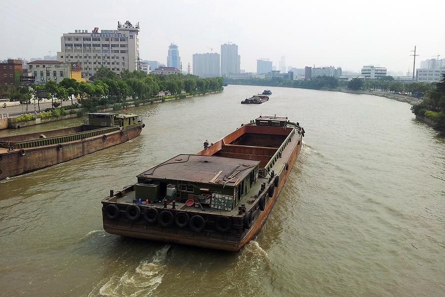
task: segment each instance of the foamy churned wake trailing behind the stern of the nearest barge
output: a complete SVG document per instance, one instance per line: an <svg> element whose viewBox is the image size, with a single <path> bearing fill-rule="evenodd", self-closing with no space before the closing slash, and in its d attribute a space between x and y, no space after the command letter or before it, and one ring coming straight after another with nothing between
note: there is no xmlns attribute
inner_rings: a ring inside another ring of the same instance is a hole
<svg viewBox="0 0 445 297"><path fill-rule="evenodd" d="M124 274L114 274L100 289L100 296L152 296L161 284L165 273L165 259L171 246L167 245L157 250L151 260L143 259L134 269L128 269ZM94 296L91 292L89 296Z"/></svg>

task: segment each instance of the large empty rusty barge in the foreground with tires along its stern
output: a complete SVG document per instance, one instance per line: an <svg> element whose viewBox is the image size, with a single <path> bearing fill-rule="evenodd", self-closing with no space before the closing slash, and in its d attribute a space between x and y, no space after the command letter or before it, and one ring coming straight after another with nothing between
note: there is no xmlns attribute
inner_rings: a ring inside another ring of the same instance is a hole
<svg viewBox="0 0 445 297"><path fill-rule="evenodd" d="M266 222L304 129L261 116L197 154L179 154L102 199L103 228L122 236L237 251Z"/></svg>

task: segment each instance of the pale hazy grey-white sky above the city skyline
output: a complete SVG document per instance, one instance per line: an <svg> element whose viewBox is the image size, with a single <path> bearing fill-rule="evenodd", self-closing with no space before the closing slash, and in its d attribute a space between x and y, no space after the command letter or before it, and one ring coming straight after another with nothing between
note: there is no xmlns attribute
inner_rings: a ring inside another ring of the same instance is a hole
<svg viewBox="0 0 445 297"><path fill-rule="evenodd" d="M116 29L117 21L130 20L140 23L146 60L166 63L174 41L185 67L193 53L220 52L230 41L246 71L256 71L258 58L278 66L285 55L286 66L298 68L359 71L374 64L406 72L412 71L414 45L419 61L445 58L444 13L445 0L0 0L0 59L55 55L62 33Z"/></svg>

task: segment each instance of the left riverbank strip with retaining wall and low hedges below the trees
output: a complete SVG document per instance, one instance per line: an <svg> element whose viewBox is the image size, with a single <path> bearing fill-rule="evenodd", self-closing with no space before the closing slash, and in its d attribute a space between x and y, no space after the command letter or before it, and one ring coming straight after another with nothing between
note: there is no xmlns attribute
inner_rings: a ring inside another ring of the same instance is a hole
<svg viewBox="0 0 445 297"><path fill-rule="evenodd" d="M162 102L167 102L167 101L173 101L173 100L178 100L178 99L185 99L185 98L190 98L190 97L197 97L197 96L203 96L203 95L208 95L208 94L215 94L215 93L220 93L223 90L220 91L211 91L211 92L206 92L206 93L200 93L200 94L194 94L194 95L188 95L185 97L182 97L181 95L183 94L178 94L178 96L174 97L174 98L159 98L159 99L155 99L155 100L132 100L132 101L126 101L126 102L122 102L119 103L121 104L121 107L119 109L116 109L115 107L106 107L106 108L99 108L97 110L97 112L109 112L109 111L119 111L119 110L124 110L125 108L132 108L132 107L137 107L140 105L148 105L148 104L155 104L155 103L162 103ZM170 96L168 96L170 97ZM83 112L78 112L78 111L82 111L82 108L78 108L78 109L71 109L70 111L75 111L77 113L74 114L67 114L67 115L62 115L59 117L54 117L54 118L48 118L45 120L42 120L40 118L37 118L35 120L31 120L31 121L25 121L25 122L14 122L13 121L13 117L12 118L8 118L7 119L7 125L0 125L0 129L19 129L19 128L23 128L23 127L28 127L28 126L34 126L34 125L39 125L39 124L43 124L43 123L49 123L49 122L55 122L55 121L61 121L61 120L65 120L65 119L71 119L74 117L80 117L80 116L84 116Z"/></svg>

